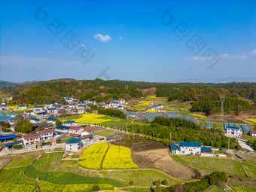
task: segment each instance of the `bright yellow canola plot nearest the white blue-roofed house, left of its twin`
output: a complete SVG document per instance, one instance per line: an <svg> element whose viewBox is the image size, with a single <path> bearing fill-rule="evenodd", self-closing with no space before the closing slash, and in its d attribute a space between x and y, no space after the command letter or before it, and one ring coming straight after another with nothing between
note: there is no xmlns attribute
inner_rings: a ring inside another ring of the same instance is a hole
<svg viewBox="0 0 256 192"><path fill-rule="evenodd" d="M103 157L108 149L108 143L96 143L85 149L78 162L79 165L89 169L100 169Z"/></svg>

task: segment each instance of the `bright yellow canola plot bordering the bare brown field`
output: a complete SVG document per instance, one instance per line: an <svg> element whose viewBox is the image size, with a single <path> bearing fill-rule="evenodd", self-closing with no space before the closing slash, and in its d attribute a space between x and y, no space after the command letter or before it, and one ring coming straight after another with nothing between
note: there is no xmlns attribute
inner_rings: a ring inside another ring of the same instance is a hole
<svg viewBox="0 0 256 192"><path fill-rule="evenodd" d="M108 148L102 164L103 169L133 169L138 167L133 163L130 148L117 145L111 145Z"/></svg>

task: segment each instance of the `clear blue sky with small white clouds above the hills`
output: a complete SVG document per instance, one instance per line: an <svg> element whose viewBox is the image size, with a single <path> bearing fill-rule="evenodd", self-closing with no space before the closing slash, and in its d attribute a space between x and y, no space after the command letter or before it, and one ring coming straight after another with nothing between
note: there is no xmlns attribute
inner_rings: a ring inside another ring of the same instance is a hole
<svg viewBox="0 0 256 192"><path fill-rule="evenodd" d="M0 80L256 81L256 1L45 2L0 1Z"/></svg>

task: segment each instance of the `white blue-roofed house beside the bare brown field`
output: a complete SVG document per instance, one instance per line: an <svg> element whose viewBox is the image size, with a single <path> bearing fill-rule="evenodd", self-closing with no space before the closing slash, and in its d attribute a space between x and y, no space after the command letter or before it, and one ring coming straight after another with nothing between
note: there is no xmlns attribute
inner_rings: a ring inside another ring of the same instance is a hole
<svg viewBox="0 0 256 192"><path fill-rule="evenodd" d="M169 148L172 154L201 154L200 142L178 142L178 145L172 143Z"/></svg>

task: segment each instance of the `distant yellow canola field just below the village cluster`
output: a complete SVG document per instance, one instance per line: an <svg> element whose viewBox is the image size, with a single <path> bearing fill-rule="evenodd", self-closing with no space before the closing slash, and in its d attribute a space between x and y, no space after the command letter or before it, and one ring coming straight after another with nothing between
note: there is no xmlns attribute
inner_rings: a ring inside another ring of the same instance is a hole
<svg viewBox="0 0 256 192"><path fill-rule="evenodd" d="M99 124L113 119L103 114L83 114L83 117L74 120L77 123Z"/></svg>

